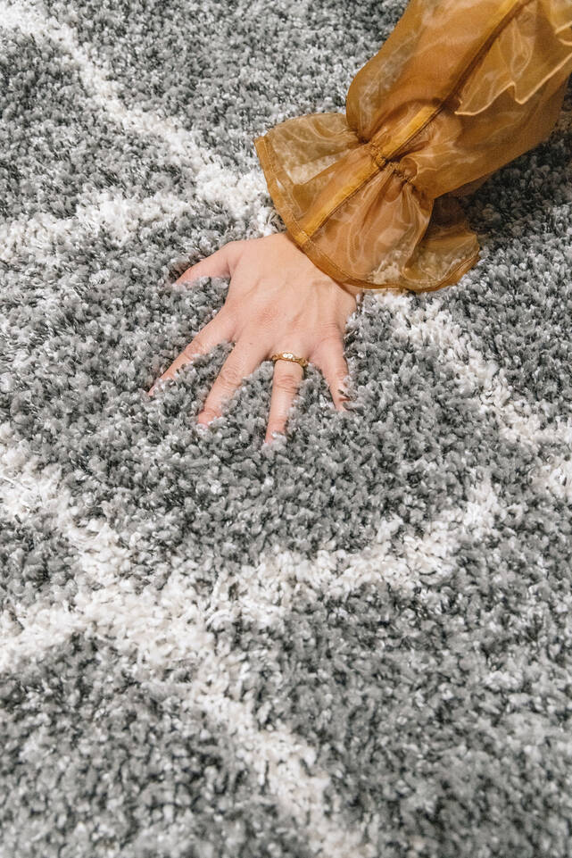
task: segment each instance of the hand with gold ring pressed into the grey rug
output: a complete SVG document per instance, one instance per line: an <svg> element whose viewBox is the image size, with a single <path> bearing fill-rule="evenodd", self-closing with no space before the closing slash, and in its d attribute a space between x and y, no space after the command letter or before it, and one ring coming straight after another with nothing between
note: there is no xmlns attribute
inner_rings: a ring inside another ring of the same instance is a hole
<svg viewBox="0 0 572 858"><path fill-rule="evenodd" d="M191 283L200 277L230 278L225 303L155 381L149 396L158 381L174 379L176 371L198 354L232 342L235 347L197 415L199 423L220 417L224 401L276 352L292 352L319 367L336 410L344 408L349 398L343 389L348 376L344 328L356 308L359 289L320 271L287 233L230 241L192 265L176 282ZM285 431L302 379L299 363L275 362L265 443L272 440L273 432Z"/></svg>

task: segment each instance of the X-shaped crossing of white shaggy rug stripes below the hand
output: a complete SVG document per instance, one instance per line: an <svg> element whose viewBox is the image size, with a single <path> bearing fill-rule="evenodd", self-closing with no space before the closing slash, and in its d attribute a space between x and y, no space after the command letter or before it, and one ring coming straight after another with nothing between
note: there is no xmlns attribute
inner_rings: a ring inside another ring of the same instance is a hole
<svg viewBox="0 0 572 858"><path fill-rule="evenodd" d="M9 440L3 429L0 440ZM193 583L199 564L184 556L174 558L175 571L161 592L134 593L129 579L121 577L128 558L112 529L95 520L86 529L78 528L72 499L59 483L59 470L38 471L26 445L4 443L0 468L6 508L21 516L33 515L40 506L53 512L57 526L79 551L81 567L73 610L67 604L40 601L16 615L12 611L0 617L0 669L13 671L21 659L41 658L46 647L62 644L74 631L111 640L126 655L136 652L137 666L151 671L153 681L161 681L153 676L154 669L191 662L196 674L190 693L187 685L181 686L185 705L202 707L213 721L236 735L238 753L261 782L268 778L269 789L307 831L316 853L324 858L345 858L350 853L374 858L375 851L360 846L362 832L371 821L360 831L341 831L332 825L323 812L329 778L320 771L309 775L301 763L304 760L311 769L315 751L287 729L259 728L250 692L242 690L249 671L247 654L216 652L211 629L239 616L262 627L276 626L295 598L343 598L363 584L382 580L410 590L419 587L421 576L430 574L428 592L452 571L458 539L469 531L476 538L485 536L494 516L502 514L490 481L473 491L464 509L452 509L429 522L421 539L405 537L399 555L390 550L391 535L400 524L393 517L382 522L375 544L361 554L325 551L315 562L289 552L270 556L257 567L244 566L237 575L220 571L211 596L202 600ZM340 561L342 571L336 571ZM104 587L94 591L95 584ZM338 806L336 812L341 811Z"/></svg>

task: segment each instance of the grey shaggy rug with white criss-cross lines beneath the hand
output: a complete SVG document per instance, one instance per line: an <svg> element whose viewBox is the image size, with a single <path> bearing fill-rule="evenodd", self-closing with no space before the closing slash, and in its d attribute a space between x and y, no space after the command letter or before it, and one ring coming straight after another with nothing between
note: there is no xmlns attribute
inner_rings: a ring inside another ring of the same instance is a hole
<svg viewBox="0 0 572 858"><path fill-rule="evenodd" d="M2 4L2 858L572 852L572 91L466 202L459 284L368 294L336 412L231 346L283 229L253 138L344 110L404 0Z"/></svg>

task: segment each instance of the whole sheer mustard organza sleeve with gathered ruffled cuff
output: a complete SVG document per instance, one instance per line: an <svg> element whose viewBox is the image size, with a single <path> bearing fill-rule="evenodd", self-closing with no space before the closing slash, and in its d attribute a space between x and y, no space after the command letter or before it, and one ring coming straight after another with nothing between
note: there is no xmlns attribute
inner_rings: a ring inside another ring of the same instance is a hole
<svg viewBox="0 0 572 858"><path fill-rule="evenodd" d="M572 0L410 0L346 111L254 145L298 246L365 289L456 283L479 253L457 196L551 132L572 72Z"/></svg>

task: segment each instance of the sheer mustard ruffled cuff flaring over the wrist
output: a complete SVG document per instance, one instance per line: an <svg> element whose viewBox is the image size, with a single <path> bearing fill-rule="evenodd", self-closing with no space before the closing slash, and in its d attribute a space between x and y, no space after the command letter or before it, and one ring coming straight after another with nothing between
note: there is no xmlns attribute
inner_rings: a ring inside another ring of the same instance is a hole
<svg viewBox="0 0 572 858"><path fill-rule="evenodd" d="M342 113L288 120L255 145L288 233L333 279L421 291L456 282L476 262L460 204L425 196L399 162L380 165Z"/></svg>

